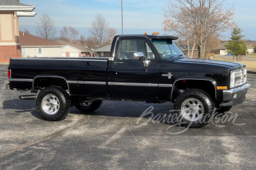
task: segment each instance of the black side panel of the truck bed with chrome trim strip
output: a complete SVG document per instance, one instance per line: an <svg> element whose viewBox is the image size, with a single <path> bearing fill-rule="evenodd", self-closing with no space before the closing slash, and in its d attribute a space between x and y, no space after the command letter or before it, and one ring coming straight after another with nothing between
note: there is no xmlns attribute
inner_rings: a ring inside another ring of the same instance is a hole
<svg viewBox="0 0 256 170"><path fill-rule="evenodd" d="M71 95L88 94L90 97L99 97L100 93L100 97L107 97L107 67L107 59L11 59L8 67L12 70L10 87L31 89L35 77L56 75L67 80ZM22 80L29 82L26 87L23 86L23 83L19 83Z"/></svg>

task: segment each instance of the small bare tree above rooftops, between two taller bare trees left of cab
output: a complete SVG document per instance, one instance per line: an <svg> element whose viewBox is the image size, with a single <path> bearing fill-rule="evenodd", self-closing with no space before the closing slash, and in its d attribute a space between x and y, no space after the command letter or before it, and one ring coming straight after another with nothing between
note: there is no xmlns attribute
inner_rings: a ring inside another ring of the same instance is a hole
<svg viewBox="0 0 256 170"><path fill-rule="evenodd" d="M77 39L77 36L79 35L78 30L75 27L69 26L63 26L60 30L61 39L72 42Z"/></svg>

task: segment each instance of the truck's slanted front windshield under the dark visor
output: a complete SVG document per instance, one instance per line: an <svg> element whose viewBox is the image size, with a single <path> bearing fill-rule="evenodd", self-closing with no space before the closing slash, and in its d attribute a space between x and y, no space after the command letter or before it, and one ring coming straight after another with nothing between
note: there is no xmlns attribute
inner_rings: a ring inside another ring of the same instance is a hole
<svg viewBox="0 0 256 170"><path fill-rule="evenodd" d="M152 43L155 45L157 52L162 59L185 57L179 47L177 47L177 45L170 39L152 40Z"/></svg>

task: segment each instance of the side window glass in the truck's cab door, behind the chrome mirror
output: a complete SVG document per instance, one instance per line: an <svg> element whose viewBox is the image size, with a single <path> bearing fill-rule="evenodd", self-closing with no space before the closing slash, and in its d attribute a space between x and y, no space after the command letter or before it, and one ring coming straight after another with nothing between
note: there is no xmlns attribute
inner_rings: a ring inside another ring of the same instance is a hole
<svg viewBox="0 0 256 170"><path fill-rule="evenodd" d="M145 42L141 39L121 40L118 45L117 59L133 59L134 52L143 52L147 59L155 59L155 56Z"/></svg>

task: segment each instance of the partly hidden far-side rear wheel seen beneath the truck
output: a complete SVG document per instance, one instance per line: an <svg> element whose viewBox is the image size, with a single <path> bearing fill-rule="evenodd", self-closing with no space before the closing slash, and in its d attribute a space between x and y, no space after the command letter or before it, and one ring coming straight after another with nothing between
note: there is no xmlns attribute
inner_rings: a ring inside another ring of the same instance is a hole
<svg viewBox="0 0 256 170"><path fill-rule="evenodd" d="M75 105L76 109L81 112L93 112L99 109L102 100L97 100L93 102L81 102L80 104Z"/></svg>

